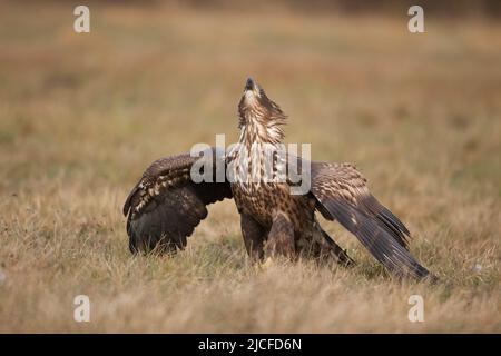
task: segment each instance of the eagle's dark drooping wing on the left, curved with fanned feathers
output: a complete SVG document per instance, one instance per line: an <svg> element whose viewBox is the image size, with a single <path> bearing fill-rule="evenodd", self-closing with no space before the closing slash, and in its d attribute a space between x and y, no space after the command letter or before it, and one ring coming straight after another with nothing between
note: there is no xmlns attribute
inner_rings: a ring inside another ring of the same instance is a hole
<svg viewBox="0 0 501 356"><path fill-rule="evenodd" d="M146 169L124 205L130 251L183 249L186 238L207 217L206 206L233 197L229 184L215 179L216 169L225 169L224 158L215 149L205 151L203 157L212 164L208 176L213 182L191 180L191 166L200 157L189 154L160 158ZM216 165L217 159L223 161Z"/></svg>

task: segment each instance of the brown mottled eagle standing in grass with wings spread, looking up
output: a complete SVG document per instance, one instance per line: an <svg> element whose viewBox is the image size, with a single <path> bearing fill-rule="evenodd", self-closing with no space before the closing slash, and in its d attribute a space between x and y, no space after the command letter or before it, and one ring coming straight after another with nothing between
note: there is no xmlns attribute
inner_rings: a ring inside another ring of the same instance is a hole
<svg viewBox="0 0 501 356"><path fill-rule="evenodd" d="M321 227L318 212L326 220L337 220L394 276L436 278L411 255L409 229L369 191L367 180L352 164L272 155L278 162L275 166L294 162L296 168L310 167L310 189L304 194L292 194L295 184L288 178L253 180L249 174L223 181L193 179L194 166L204 159L214 164L204 171L209 178L230 166L235 171L259 171L262 158L253 157L253 147L282 145L285 123L279 106L248 78L238 103L239 149L222 152L210 148L212 155L205 158L191 154L160 158L132 188L124 205L130 251L173 254L184 249L187 238L207 217L207 206L234 199L244 245L253 261L310 256L353 266L346 250ZM243 164L246 167L239 167Z"/></svg>

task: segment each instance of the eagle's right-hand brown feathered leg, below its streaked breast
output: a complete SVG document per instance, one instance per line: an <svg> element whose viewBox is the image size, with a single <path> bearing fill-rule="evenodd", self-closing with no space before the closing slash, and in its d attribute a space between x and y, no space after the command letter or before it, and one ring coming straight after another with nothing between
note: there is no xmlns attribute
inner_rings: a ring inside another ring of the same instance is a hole
<svg viewBox="0 0 501 356"><path fill-rule="evenodd" d="M286 215L278 212L273 218L272 229L266 241L266 257L295 257L294 226Z"/></svg>

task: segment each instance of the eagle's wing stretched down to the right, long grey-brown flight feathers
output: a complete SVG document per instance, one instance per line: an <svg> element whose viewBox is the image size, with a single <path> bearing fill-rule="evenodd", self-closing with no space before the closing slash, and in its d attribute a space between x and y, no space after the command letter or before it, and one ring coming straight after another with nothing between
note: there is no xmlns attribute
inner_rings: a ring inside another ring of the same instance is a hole
<svg viewBox="0 0 501 356"><path fill-rule="evenodd" d="M370 194L366 179L354 166L312 162L311 169L311 191L326 219L340 221L396 275L418 279L429 275L409 253L407 228Z"/></svg>

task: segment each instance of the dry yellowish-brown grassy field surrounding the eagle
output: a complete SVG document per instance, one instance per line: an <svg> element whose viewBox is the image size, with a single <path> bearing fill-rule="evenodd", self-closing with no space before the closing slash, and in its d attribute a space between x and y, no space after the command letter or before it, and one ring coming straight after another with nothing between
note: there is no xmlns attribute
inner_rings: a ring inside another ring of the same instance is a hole
<svg viewBox="0 0 501 356"><path fill-rule="evenodd" d="M501 332L500 23L90 11L77 34L70 6L0 4L0 332ZM177 256L129 254L129 189L156 158L235 141L248 75L287 141L357 164L441 284L393 280L325 221L357 267L256 268L232 201Z"/></svg>

